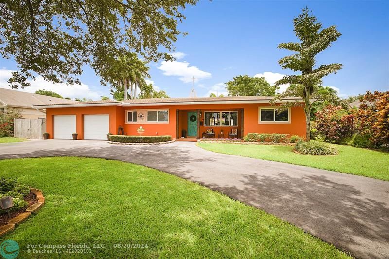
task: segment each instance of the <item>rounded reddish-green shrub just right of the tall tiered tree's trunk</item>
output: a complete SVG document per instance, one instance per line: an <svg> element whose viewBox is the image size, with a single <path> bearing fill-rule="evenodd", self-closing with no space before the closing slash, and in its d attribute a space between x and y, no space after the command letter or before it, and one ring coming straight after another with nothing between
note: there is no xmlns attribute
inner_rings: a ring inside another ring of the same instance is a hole
<svg viewBox="0 0 389 259"><path fill-rule="evenodd" d="M355 116L342 107L328 105L316 113L313 126L325 141L339 143L342 139L353 135L354 121Z"/></svg>

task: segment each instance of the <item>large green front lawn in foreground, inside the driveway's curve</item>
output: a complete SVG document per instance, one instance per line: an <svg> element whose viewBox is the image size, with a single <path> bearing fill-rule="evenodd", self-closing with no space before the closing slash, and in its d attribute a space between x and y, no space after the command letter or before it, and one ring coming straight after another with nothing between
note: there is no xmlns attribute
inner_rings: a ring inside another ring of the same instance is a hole
<svg viewBox="0 0 389 259"><path fill-rule="evenodd" d="M139 165L75 157L0 160L0 176L17 177L46 198L37 215L2 238L19 242L20 258L31 257L24 245L32 240L151 241L147 249L92 249L98 258L347 257L264 211Z"/></svg>

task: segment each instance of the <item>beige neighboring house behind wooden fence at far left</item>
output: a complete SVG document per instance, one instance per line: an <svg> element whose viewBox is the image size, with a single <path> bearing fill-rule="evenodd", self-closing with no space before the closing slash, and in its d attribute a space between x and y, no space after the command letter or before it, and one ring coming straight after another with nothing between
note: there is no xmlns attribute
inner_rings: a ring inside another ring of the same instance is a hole
<svg viewBox="0 0 389 259"><path fill-rule="evenodd" d="M0 114L4 113L7 108L17 108L26 119L46 118L46 110L33 107L34 105L74 102L57 97L0 88Z"/></svg>

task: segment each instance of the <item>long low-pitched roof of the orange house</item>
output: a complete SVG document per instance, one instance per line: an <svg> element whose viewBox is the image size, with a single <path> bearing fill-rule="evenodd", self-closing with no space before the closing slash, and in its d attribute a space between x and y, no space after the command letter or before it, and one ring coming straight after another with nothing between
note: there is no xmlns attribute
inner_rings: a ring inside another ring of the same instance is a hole
<svg viewBox="0 0 389 259"><path fill-rule="evenodd" d="M77 102L67 104L45 104L36 106L45 107L75 107L75 106L139 106L147 104L148 106L157 105L189 105L189 104L242 104L242 103L268 103L273 96L226 96L226 97L189 97L189 98L151 98L151 99L131 99L126 101L91 101L91 102ZM286 101L301 101L298 97L284 98L281 102Z"/></svg>

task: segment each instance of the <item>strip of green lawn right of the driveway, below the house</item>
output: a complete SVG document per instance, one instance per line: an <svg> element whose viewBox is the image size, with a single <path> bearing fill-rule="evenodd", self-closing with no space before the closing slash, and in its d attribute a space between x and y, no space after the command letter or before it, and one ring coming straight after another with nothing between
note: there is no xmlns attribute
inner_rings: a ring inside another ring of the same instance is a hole
<svg viewBox="0 0 389 259"><path fill-rule="evenodd" d="M292 146L237 145L225 143L198 143L213 152L241 155L264 160L316 167L342 173L363 175L389 181L389 153L352 146L334 145L339 155L301 155L292 152Z"/></svg>

